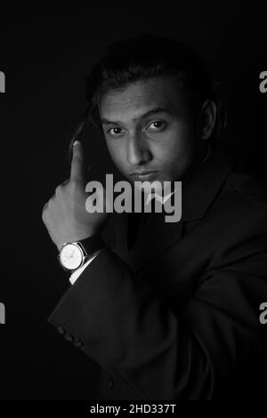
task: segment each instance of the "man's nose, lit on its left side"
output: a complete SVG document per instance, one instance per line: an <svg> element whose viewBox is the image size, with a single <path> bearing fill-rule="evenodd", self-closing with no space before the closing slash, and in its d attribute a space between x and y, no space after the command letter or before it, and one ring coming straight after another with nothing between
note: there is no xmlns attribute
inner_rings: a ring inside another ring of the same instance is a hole
<svg viewBox="0 0 267 418"><path fill-rule="evenodd" d="M143 165L151 159L148 144L140 134L129 135L127 141L127 162L130 165Z"/></svg>

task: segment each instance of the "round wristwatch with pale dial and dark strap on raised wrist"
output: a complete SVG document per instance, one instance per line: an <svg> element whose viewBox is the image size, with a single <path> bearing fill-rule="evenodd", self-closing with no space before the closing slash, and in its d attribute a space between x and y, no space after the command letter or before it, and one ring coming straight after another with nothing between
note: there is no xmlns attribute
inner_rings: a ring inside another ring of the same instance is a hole
<svg viewBox="0 0 267 418"><path fill-rule="evenodd" d="M61 267L67 271L76 270L85 264L93 253L105 247L105 243L100 235L93 235L81 241L64 243L58 259Z"/></svg>

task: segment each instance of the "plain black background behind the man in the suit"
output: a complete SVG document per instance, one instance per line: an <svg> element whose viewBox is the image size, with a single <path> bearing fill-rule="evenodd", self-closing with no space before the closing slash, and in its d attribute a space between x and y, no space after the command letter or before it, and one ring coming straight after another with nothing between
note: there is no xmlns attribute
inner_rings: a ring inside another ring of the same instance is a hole
<svg viewBox="0 0 267 418"><path fill-rule="evenodd" d="M89 4L89 2L88 2ZM223 148L267 180L267 70L263 3L90 4L61 12L2 9L0 70L1 257L0 398L94 398L97 366L46 322L69 286L41 219L44 203L69 177L69 136L85 111L85 77L109 42L142 31L194 44L225 83ZM112 164L101 134L84 133L96 172ZM2 246L2 245L1 245ZM267 326L266 326L267 331ZM266 381L267 376L259 376Z"/></svg>

